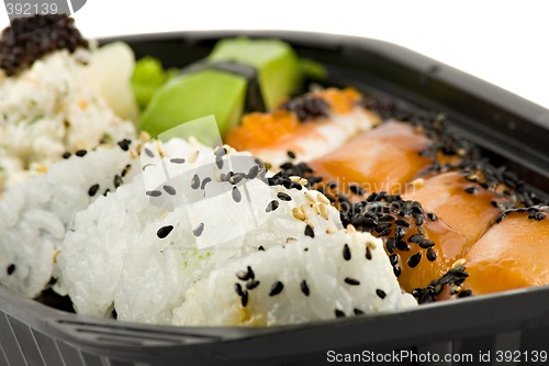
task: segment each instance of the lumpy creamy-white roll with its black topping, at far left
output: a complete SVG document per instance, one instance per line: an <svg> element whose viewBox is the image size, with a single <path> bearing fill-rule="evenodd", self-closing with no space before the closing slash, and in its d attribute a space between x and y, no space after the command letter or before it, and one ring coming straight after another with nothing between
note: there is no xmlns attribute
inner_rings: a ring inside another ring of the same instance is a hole
<svg viewBox="0 0 549 366"><path fill-rule="evenodd" d="M44 24L55 30L40 30ZM26 33L35 27L41 33L15 35L16 29ZM33 42L38 36L41 42ZM86 64L96 65L96 53L88 48L72 20L61 15L18 19L3 31L0 196L29 177L44 174L66 153L115 145L135 136L133 122L117 117L91 87L91 65ZM91 78L98 79L100 73L93 68Z"/></svg>

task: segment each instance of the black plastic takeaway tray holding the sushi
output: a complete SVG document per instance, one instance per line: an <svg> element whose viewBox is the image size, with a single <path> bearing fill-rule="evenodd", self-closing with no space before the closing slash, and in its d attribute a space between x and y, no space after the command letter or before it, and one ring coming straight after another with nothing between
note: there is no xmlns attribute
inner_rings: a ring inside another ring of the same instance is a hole
<svg viewBox="0 0 549 366"><path fill-rule="evenodd" d="M549 193L549 110L410 49L366 38L294 32L280 37L328 71L329 85L445 113L455 129ZM203 58L235 32L132 36L137 57L166 66ZM114 40L103 40L109 42ZM0 239L1 240L1 239ZM175 328L76 315L0 286L0 365L497 365L549 363L549 287L410 311L277 328Z"/></svg>

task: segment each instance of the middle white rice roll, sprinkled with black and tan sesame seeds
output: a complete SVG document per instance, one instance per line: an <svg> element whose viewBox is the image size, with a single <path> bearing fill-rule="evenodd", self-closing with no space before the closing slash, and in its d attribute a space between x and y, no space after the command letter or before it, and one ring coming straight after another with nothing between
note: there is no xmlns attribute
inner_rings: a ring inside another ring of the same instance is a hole
<svg viewBox="0 0 549 366"><path fill-rule="evenodd" d="M229 258L341 226L326 197L267 185L247 153L177 138L144 152L143 176L77 214L60 246L79 313L170 324L187 289Z"/></svg>

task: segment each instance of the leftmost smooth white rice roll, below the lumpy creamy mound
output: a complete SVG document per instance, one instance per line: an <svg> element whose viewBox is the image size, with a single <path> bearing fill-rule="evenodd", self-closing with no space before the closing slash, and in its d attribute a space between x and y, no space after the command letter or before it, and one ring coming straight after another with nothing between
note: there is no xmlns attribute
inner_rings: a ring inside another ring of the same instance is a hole
<svg viewBox="0 0 549 366"><path fill-rule="evenodd" d="M130 146L101 146L9 190L0 200L0 282L37 296L54 274L55 252L76 212L132 179L139 170L136 156Z"/></svg>

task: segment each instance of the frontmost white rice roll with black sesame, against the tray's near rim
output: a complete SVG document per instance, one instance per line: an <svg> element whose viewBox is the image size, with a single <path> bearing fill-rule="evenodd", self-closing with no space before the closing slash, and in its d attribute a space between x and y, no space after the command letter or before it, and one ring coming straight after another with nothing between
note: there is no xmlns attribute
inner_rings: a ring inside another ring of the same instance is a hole
<svg viewBox="0 0 549 366"><path fill-rule="evenodd" d="M415 306L382 241L340 230L231 260L193 284L173 324L281 325Z"/></svg>

